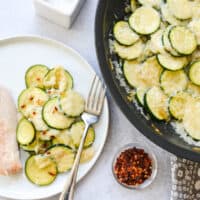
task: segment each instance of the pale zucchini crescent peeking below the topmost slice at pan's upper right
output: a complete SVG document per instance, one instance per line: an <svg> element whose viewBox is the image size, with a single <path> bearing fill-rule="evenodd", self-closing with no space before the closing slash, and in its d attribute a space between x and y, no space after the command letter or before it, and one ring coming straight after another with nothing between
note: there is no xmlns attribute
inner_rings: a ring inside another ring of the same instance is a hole
<svg viewBox="0 0 200 200"><path fill-rule="evenodd" d="M171 11L169 10L167 4L163 4L161 6L161 13L162 13L163 20L168 22L171 25L186 25L188 23L187 20L179 20L176 17L174 17Z"/></svg>

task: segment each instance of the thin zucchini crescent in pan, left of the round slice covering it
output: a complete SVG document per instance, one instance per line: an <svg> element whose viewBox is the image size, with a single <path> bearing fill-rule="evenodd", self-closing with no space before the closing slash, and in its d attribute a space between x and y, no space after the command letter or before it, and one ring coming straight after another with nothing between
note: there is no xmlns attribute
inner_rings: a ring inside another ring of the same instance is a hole
<svg viewBox="0 0 200 200"><path fill-rule="evenodd" d="M169 41L169 32L174 26L168 26L163 32L162 43L167 52L169 52L172 56L180 56L178 52L176 52Z"/></svg>

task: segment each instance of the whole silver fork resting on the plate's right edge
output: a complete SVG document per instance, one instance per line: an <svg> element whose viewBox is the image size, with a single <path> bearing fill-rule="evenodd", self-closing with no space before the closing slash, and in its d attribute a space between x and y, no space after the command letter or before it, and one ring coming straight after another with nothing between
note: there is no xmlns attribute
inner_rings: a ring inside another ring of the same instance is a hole
<svg viewBox="0 0 200 200"><path fill-rule="evenodd" d="M80 157L83 150L85 138L87 136L87 131L90 125L95 124L99 119L103 108L105 92L106 88L103 86L99 78L95 75L85 105L85 112L81 115L82 120L85 122L85 130L82 135L82 139L76 154L74 165L70 172L70 176L64 186L63 192L61 193L59 200L73 200Z"/></svg>

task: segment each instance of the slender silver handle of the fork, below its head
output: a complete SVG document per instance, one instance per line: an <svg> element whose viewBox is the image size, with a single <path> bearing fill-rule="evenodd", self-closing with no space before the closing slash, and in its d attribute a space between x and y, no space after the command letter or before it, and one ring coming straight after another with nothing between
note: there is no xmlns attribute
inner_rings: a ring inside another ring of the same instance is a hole
<svg viewBox="0 0 200 200"><path fill-rule="evenodd" d="M84 145L85 138L87 136L87 131L88 131L89 127L90 127L90 124L85 123L85 130L84 130L82 138L81 138L81 142L80 142L80 145L78 148L78 152L76 154L76 158L75 158L73 167L71 169L69 178L68 178L67 182L65 183L63 192L61 193L59 200L73 200L74 188L75 188L75 184L76 184L76 178L77 178L77 172L78 172L78 167L79 167L79 163L80 163L81 153L83 150L83 145Z"/></svg>

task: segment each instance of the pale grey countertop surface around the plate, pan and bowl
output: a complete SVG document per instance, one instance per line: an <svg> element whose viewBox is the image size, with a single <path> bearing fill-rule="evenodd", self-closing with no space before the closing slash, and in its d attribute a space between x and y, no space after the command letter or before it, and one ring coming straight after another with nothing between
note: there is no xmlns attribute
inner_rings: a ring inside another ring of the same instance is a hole
<svg viewBox="0 0 200 200"><path fill-rule="evenodd" d="M35 15L31 0L1 0L0 37L34 34L61 41L77 50L100 74L94 44L94 19L97 0L87 0L70 30ZM108 94L109 95L109 94ZM125 118L109 95L111 123L104 151L91 172L77 185L77 200L154 200L170 199L170 154L139 133ZM147 143L158 158L158 175L142 191L128 190L116 183L111 171L113 155L126 143ZM58 199L58 196L49 198ZM5 198L0 197L0 200Z"/></svg>

